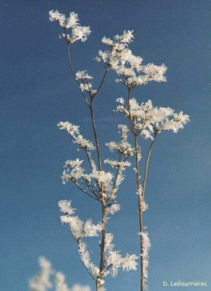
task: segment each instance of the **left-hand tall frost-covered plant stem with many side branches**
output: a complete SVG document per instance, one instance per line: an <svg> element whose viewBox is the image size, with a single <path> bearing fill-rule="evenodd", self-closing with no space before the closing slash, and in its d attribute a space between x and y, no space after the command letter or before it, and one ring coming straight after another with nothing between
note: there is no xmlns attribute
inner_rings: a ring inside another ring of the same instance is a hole
<svg viewBox="0 0 211 291"><path fill-rule="evenodd" d="M105 72L102 77L102 81L97 89L92 88L90 80L93 78L88 74L86 69L75 72L71 63L70 45L76 40L85 41L91 30L89 26L80 26L78 14L70 12L68 18L64 14L56 11L49 11L51 21L57 21L63 28L61 38L65 39L68 48L68 59L71 71L77 82L77 85L81 91L81 94L86 102L86 105L90 111L90 117L92 120L92 130L94 134L94 142L87 140L83 137L79 131L79 126L74 125L68 121L60 121L58 127L66 130L73 143L76 143L80 149L84 151L84 156L88 160L89 169L82 167L83 160L79 158L73 160L67 160L64 164L64 171L62 174L62 182L65 184L68 181L72 181L76 187L78 187L83 193L96 200L99 203L99 207L102 211L102 219L99 223L94 224L92 219L82 221L77 215L74 215L74 208L71 207L71 201L60 200L58 202L60 211L64 215L60 216L61 222L68 223L71 234L74 240L77 242L78 251L81 260L96 283L96 290L103 291L104 278L111 273L112 276L116 276L118 268L123 270L136 270L137 269L137 255L126 254L123 257L119 251L114 250L114 244L112 243L113 234L107 232L106 223L110 218L109 215L114 214L120 210L120 205L116 203L116 192L122 180L124 179L123 171L126 166L130 166L131 163L127 158L134 154L135 149L132 148L127 141L127 133L129 132L126 125L119 125L120 142L116 144L116 150L118 151L119 159L105 159L104 162L110 164L111 169L115 169L115 175L110 171L103 170L101 162L101 154L98 143L97 132L94 122L94 108L93 101L96 95L99 93L101 86L106 77L109 64L106 64ZM67 29L70 29L70 33L67 33ZM113 143L112 143L113 144ZM112 144L108 146L112 146ZM96 150L97 162L92 158L91 151ZM87 244L84 241L88 236L99 236L101 232L100 245L100 261L96 265L90 257L90 253L87 249Z"/></svg>

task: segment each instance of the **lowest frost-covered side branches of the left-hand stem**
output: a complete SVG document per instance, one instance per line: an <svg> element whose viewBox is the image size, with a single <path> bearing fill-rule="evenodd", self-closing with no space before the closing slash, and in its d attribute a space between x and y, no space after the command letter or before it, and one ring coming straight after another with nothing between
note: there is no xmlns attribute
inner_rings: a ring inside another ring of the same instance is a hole
<svg viewBox="0 0 211 291"><path fill-rule="evenodd" d="M95 225L92 223L91 219L87 219L84 223L78 216L73 215L75 209L71 207L71 201L60 200L58 205L60 207L60 211L65 213L65 215L60 216L61 222L66 222L69 224L72 236L77 241L81 260L91 277L95 281L99 282L99 290L105 290L103 287L104 276L108 275L109 273L111 273L113 277L116 276L118 273L118 268L122 267L123 271L137 269L136 265L138 262L136 260L139 257L135 254L129 255L128 253L125 257L122 257L120 251L113 250L115 246L112 243L113 234L106 233L104 249L105 260L103 269L100 271L100 269L93 262L91 262L90 253L87 250L87 244L82 240L82 238L87 236L98 236L98 232L102 231L104 225L101 223ZM120 205L112 204L108 208L107 214L114 214L118 210L120 210ZM111 270L109 268L111 268Z"/></svg>

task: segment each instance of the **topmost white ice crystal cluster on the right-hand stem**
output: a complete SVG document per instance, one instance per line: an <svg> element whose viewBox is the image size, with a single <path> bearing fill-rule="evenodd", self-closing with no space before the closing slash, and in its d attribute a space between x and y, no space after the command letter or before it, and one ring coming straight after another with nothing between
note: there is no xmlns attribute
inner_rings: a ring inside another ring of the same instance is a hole
<svg viewBox="0 0 211 291"><path fill-rule="evenodd" d="M116 82L130 85L131 88L137 85L146 84L151 80L158 82L166 81L166 65L155 65L148 63L142 64L142 57L136 56L129 49L128 44L133 41L133 30L124 30L122 35L115 35L111 40L103 37L102 42L109 46L109 50L99 50L97 61L103 61L105 65L110 66L120 77Z"/></svg>

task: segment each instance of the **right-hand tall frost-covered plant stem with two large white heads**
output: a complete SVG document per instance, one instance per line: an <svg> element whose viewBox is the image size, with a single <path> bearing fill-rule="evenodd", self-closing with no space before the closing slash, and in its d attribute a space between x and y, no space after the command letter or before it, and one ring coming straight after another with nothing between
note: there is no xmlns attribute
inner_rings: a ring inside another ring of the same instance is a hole
<svg viewBox="0 0 211 291"><path fill-rule="evenodd" d="M142 212L148 209L148 205L144 199L145 184L147 177L148 162L151 154L153 144L157 133L163 130L172 130L178 132L179 129L184 128L184 125L190 121L187 114L182 111L175 113L170 107L153 107L152 101L148 100L139 104L133 97L131 98L131 91L138 85L146 84L149 81L166 82L165 72L166 65L155 65L148 63L142 64L142 58L135 56L128 48L128 44L134 38L133 31L124 31L122 35L114 36L114 39L102 38L102 42L110 47L110 50L99 50L99 55L96 57L98 61L103 61L105 65L111 67L121 78L116 79L117 83L122 83L127 88L127 101L123 97L119 97L116 101L119 105L116 112L123 113L129 123L129 130L126 128L124 132L131 131L135 143L135 159L136 159L136 181L137 181L137 195L139 207L139 225L140 225L140 249L141 249L141 291L146 286L148 277L148 263L149 263L149 248L151 247L148 232L143 226ZM143 185L140 182L139 162L141 159L141 147L138 144L138 136L145 139L152 140L147 160L145 164L145 172ZM107 144L110 150L117 149L115 142Z"/></svg>

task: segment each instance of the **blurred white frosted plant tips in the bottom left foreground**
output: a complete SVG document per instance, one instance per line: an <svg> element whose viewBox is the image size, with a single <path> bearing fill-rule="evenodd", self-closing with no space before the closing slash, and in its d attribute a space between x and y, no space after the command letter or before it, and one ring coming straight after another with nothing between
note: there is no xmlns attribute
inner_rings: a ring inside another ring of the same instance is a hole
<svg viewBox="0 0 211 291"><path fill-rule="evenodd" d="M47 291L54 287L55 291L91 291L89 285L74 284L69 288L65 282L65 275L61 271L55 272L51 262L44 256L38 258L39 273L29 279L30 291Z"/></svg>

